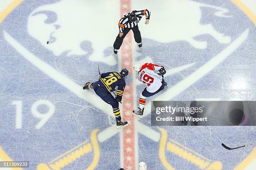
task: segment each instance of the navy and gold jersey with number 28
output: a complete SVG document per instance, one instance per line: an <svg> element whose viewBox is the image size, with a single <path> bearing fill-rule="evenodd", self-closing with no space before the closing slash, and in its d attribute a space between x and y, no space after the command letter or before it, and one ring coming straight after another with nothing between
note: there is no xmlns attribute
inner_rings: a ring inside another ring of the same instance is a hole
<svg viewBox="0 0 256 170"><path fill-rule="evenodd" d="M100 75L99 80L103 83L106 89L111 92L115 90L115 87L118 86L117 89L117 97L122 100L123 90L125 88L125 80L118 72L106 72Z"/></svg>

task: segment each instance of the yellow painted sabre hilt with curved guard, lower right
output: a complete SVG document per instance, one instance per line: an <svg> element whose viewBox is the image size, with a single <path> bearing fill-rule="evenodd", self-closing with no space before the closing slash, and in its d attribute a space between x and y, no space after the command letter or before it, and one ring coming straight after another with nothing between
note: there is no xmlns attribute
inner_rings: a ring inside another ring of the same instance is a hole
<svg viewBox="0 0 256 170"><path fill-rule="evenodd" d="M172 168L172 166L167 162L165 158L165 153L164 153L165 149L174 153L180 158L183 158L184 160L187 160L188 162L196 165L200 169L204 169L204 170L221 170L222 169L222 163L219 161L213 162L212 160L205 158L204 156L200 155L194 150L177 143L175 140L169 139L169 141L167 142L166 130L164 129L159 129L159 130L161 131L159 157L166 169L174 170L174 168Z"/></svg>

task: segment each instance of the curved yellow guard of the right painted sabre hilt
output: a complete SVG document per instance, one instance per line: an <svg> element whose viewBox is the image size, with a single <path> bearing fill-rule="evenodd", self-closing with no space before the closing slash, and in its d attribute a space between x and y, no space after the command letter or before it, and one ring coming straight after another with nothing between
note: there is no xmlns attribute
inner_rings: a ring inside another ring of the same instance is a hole
<svg viewBox="0 0 256 170"><path fill-rule="evenodd" d="M166 140L167 140L167 133L164 129L159 128L159 130L161 131L161 141L160 141L160 145L159 145L159 158L161 160L161 163L164 165L164 167L167 170L175 170L174 168L172 168L172 166L167 162L166 158L165 158L165 145L166 145Z"/></svg>

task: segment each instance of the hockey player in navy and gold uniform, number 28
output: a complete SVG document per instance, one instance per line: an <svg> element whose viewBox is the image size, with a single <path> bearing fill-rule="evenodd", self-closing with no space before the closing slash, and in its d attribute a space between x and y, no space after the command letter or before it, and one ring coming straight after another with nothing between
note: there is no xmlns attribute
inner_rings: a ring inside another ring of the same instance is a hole
<svg viewBox="0 0 256 170"><path fill-rule="evenodd" d="M106 72L100 75L98 81L87 82L83 89L93 89L100 98L113 107L113 112L116 119L117 128L122 128L128 125L128 122L121 120L119 104L122 101L123 90L125 88L125 77L128 75L128 70L125 68L121 72ZM113 97L111 92L116 90L116 97Z"/></svg>

